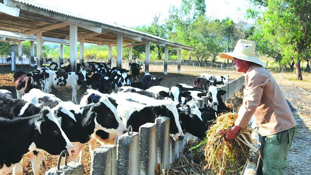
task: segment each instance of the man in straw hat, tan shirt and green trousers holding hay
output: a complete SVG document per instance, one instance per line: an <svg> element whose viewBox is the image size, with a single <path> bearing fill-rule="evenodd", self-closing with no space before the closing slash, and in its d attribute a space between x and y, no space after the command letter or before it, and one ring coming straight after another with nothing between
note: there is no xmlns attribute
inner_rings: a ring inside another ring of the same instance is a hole
<svg viewBox="0 0 311 175"><path fill-rule="evenodd" d="M220 54L220 58L233 60L238 72L245 73L243 104L238 118L230 131L228 140L234 139L241 127L246 127L253 116L262 136L260 153L264 175L284 175L287 154L296 130L296 121L266 64L255 56L256 44L239 40L234 51Z"/></svg>

